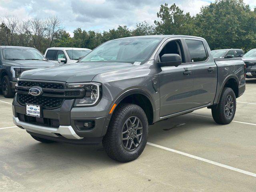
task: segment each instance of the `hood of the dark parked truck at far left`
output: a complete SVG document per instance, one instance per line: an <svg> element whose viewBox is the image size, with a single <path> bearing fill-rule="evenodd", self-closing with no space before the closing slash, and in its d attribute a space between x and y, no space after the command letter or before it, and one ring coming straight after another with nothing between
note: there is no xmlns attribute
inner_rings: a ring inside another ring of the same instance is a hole
<svg viewBox="0 0 256 192"><path fill-rule="evenodd" d="M54 62L42 60L4 60L4 64L17 67L53 67Z"/></svg>

